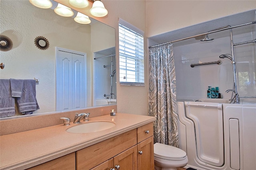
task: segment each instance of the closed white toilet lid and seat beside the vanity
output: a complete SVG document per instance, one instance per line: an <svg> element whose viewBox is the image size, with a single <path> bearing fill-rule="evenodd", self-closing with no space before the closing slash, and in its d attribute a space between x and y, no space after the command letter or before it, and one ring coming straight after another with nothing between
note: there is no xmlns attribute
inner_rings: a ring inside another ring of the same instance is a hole
<svg viewBox="0 0 256 170"><path fill-rule="evenodd" d="M155 143L154 156L167 160L177 160L182 158L184 159L186 157L186 152L170 145Z"/></svg>

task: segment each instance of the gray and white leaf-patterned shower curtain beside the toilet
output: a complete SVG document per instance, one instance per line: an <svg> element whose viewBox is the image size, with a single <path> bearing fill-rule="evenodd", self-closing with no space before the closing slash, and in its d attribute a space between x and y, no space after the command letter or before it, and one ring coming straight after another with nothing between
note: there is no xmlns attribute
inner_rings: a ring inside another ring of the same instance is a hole
<svg viewBox="0 0 256 170"><path fill-rule="evenodd" d="M154 122L154 143L179 147L176 76L172 44L150 48L148 106Z"/></svg>

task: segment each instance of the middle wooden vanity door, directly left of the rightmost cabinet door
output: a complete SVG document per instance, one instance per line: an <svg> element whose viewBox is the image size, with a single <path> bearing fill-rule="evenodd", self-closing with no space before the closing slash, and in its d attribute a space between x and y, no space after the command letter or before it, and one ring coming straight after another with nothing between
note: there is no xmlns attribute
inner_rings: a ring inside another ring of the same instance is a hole
<svg viewBox="0 0 256 170"><path fill-rule="evenodd" d="M115 166L119 166L120 168ZM114 168L115 170L137 170L137 146L131 147L115 156Z"/></svg>

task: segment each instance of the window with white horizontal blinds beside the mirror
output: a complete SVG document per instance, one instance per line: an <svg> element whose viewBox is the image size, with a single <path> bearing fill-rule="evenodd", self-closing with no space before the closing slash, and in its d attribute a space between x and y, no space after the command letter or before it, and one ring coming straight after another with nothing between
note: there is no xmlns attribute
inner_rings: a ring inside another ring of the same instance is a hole
<svg viewBox="0 0 256 170"><path fill-rule="evenodd" d="M144 85L143 31L119 19L120 84Z"/></svg>

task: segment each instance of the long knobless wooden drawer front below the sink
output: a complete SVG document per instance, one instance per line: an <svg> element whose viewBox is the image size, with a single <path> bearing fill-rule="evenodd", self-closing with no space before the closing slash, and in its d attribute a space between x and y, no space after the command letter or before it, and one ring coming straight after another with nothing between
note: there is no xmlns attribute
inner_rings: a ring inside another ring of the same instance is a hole
<svg viewBox="0 0 256 170"><path fill-rule="evenodd" d="M137 129L76 152L77 170L89 170L137 144Z"/></svg>

